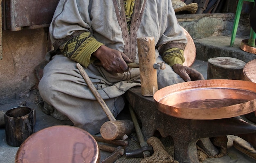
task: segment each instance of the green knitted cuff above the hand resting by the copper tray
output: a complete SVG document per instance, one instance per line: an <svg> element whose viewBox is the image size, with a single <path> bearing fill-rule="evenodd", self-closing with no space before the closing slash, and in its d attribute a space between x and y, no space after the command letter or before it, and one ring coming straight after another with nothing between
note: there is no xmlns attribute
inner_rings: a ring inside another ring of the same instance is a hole
<svg viewBox="0 0 256 163"><path fill-rule="evenodd" d="M164 62L170 66L173 66L175 64L182 65L185 62L184 50L176 47L164 51L162 57Z"/></svg>

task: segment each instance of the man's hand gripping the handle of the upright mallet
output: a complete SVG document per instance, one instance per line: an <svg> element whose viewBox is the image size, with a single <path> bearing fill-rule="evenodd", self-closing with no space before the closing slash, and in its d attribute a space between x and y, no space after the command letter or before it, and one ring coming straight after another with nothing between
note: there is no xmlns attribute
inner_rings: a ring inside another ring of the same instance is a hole
<svg viewBox="0 0 256 163"><path fill-rule="evenodd" d="M132 63L132 60L121 51L111 49L102 45L92 55L97 57L106 71L111 73L124 73L129 67L126 63Z"/></svg>

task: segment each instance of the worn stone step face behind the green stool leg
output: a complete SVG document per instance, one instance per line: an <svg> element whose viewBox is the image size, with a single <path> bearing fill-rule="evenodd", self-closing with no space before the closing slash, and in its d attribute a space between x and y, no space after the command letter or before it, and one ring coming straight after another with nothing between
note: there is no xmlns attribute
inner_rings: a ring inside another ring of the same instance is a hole
<svg viewBox="0 0 256 163"><path fill-rule="evenodd" d="M177 20L195 39L209 36L231 36L234 13L177 15ZM249 14L242 13L238 25L238 36L249 36Z"/></svg>

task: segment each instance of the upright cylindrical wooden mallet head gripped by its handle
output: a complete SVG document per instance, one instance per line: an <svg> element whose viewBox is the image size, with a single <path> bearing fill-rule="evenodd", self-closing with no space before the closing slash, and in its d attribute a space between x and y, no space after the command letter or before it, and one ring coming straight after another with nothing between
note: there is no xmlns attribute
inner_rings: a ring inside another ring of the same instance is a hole
<svg viewBox="0 0 256 163"><path fill-rule="evenodd" d="M155 38L137 38L141 95L153 96L157 92L157 70L153 68L155 59Z"/></svg>

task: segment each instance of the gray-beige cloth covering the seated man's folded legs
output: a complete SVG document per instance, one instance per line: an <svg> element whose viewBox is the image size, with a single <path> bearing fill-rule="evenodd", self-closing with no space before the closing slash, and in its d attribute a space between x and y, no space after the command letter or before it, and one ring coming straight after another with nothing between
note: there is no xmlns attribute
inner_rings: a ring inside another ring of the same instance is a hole
<svg viewBox="0 0 256 163"><path fill-rule="evenodd" d="M158 57L159 61L162 58ZM131 87L140 86L139 68L132 68L123 74L111 74L102 67L90 64L84 70L115 117L126 103L124 93ZM157 71L157 81L159 89L184 82L168 65L166 69ZM39 92L45 102L90 134L99 133L101 125L109 121L76 68L76 63L63 55L54 56L45 66Z"/></svg>

